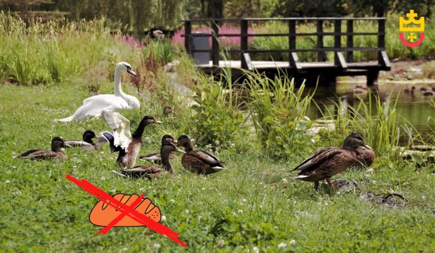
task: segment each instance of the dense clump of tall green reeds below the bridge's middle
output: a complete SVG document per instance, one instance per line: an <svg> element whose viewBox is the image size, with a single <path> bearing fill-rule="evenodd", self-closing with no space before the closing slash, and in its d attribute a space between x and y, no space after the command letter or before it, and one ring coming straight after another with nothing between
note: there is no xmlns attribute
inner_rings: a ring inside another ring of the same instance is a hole
<svg viewBox="0 0 435 253"><path fill-rule="evenodd" d="M312 122L305 117L313 93L304 95L305 84L281 74L273 79L258 72L245 72L248 109L263 154L284 158L305 147L311 137L305 132Z"/></svg>

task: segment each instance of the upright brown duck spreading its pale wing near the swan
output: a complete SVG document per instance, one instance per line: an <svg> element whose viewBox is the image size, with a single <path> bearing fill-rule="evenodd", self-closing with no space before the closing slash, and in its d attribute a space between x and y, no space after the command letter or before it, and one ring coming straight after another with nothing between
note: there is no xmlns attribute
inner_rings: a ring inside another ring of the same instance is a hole
<svg viewBox="0 0 435 253"><path fill-rule="evenodd" d="M124 168L131 168L136 163L136 157L139 154L140 147L142 146L142 134L145 126L153 123L161 123L155 120L153 116L144 116L137 126L136 131L130 133L130 121L124 116L116 112L103 111L102 114L104 121L109 125L113 131L113 145L119 146L119 155L116 161L122 164Z"/></svg>

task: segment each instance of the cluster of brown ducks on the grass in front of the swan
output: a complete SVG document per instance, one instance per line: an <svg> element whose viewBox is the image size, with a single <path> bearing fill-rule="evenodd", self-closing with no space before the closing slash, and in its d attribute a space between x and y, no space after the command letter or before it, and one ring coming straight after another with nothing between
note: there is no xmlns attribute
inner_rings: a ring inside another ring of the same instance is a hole
<svg viewBox="0 0 435 253"><path fill-rule="evenodd" d="M103 111L102 116L107 125L113 129L113 133L105 131L100 133L100 136L97 137L94 132L87 130L83 134L83 141L64 141L61 137L55 137L52 140L51 150L32 149L15 158L65 160L67 156L64 151L60 149L61 147L81 146L85 149L96 150L102 144L109 143L110 153L118 152L116 162L124 167L120 172L114 172L126 177L147 176L148 178L156 178L165 171L170 172L171 176L175 177L176 172L170 162L170 160L177 159L177 157L172 154L173 151L183 154L181 164L191 172L197 174L211 174L225 169L222 162L207 151L194 150L189 137L186 135L180 136L178 141L175 141L171 135L164 135L161 139L160 153L153 153L139 158L142 161L146 160L161 163L162 167L157 165L135 166L136 158L142 146L144 128L149 124L161 123L161 121L154 119L152 116L144 116L137 126L136 131L131 133L130 121L119 113ZM94 138L98 139L96 143L92 140ZM177 146L184 147L185 151Z"/></svg>

